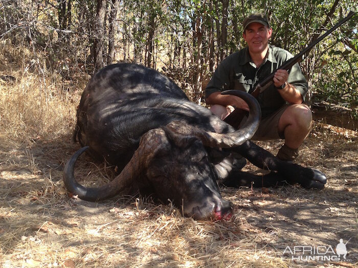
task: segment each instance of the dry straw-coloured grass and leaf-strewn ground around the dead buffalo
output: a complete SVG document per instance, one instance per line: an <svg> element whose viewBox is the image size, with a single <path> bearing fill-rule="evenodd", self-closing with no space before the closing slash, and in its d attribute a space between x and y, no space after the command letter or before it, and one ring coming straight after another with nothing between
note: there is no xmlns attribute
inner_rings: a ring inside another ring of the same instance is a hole
<svg viewBox="0 0 358 268"><path fill-rule="evenodd" d="M4 45L3 45L4 46ZM2 47L5 50L4 47ZM6 48L8 51L8 48ZM5 55L0 54L0 55ZM25 54L24 54L25 55ZM1 58L3 57L3 58ZM88 80L68 82L17 71L0 84L0 264L3 267L354 267L358 261L357 132L316 121L300 162L325 172L323 191L298 186L223 188L231 221L198 222L150 198L89 203L68 197L64 162L75 110ZM9 74L9 73L8 73ZM261 143L276 152L280 141ZM78 178L104 183L111 169L81 157ZM253 169L251 165L247 169ZM286 246L332 246L343 238L351 261L295 262Z"/></svg>

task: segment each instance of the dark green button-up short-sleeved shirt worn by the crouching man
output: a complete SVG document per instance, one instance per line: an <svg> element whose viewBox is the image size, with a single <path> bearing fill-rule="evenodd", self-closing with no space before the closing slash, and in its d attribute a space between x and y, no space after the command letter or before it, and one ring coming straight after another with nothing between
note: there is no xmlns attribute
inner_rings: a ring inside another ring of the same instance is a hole
<svg viewBox="0 0 358 268"><path fill-rule="evenodd" d="M206 98L211 93L228 89L239 89L251 93L260 81L290 58L293 58L293 55L289 52L269 45L266 59L259 68L256 68L251 61L249 48L245 47L231 54L219 64L205 89ZM298 63L289 70L287 82L300 91L304 100L308 84ZM274 85L261 92L257 100L261 107L262 118L269 116L286 104Z"/></svg>

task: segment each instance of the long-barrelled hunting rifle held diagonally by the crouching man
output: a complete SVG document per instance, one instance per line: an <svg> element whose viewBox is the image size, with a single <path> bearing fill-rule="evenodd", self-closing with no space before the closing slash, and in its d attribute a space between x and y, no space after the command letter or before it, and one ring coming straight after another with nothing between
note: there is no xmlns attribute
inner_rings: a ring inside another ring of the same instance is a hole
<svg viewBox="0 0 358 268"><path fill-rule="evenodd" d="M327 35L329 35L330 33L332 33L335 29L337 29L338 27L340 27L341 25L343 25L343 23L345 23L348 19L350 19L352 16L354 15L354 12L349 12L349 14L347 15L347 17L345 17L344 19L342 19L341 21L339 21L336 25L334 25L331 29L329 29L325 34L323 34L322 36L320 36L319 38L317 38L316 40L311 41L306 48L304 48L304 50L302 50L299 54L297 54L295 57L285 61L278 69L284 69L284 70L289 70L290 68L292 68L293 65L295 65L296 63L300 62L303 59L303 56L305 54L308 54L309 51L312 49L312 47L314 47L317 43L319 43L320 41L322 41L323 38L325 38ZM277 70L277 69L276 69ZM272 74L270 74L268 77L266 77L263 81L261 81L256 87L255 89L252 91L252 95L257 99L258 95L264 91L266 88L268 88L269 86L271 86L274 83L274 75L276 70L274 70L272 72ZM230 94L232 93L232 91L234 90L226 90L223 91L221 94ZM243 119L243 117L247 114L247 111L244 111L242 109L239 108L235 108L235 110L230 113L225 119L224 121L226 121L226 123L230 124L231 126L233 126L234 128L238 128L240 126L240 123Z"/></svg>

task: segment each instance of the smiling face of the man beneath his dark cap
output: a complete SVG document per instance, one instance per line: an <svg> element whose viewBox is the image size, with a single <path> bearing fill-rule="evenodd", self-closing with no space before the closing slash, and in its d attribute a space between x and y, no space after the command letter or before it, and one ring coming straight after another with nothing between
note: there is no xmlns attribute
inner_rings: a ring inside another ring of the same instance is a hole
<svg viewBox="0 0 358 268"><path fill-rule="evenodd" d="M248 43L251 53L262 53L266 50L271 35L272 28L269 29L259 22L252 22L244 31L243 39Z"/></svg>

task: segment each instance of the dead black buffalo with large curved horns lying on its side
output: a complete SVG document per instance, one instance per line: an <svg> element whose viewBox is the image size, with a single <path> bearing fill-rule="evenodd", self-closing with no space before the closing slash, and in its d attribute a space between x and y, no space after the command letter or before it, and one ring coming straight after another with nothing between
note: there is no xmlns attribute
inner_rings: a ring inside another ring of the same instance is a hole
<svg viewBox="0 0 358 268"><path fill-rule="evenodd" d="M322 189L318 170L280 161L249 139L255 133L260 108L241 91L229 91L250 107L242 128L220 120L158 71L136 64L114 64L97 72L83 91L77 112L76 137L83 148L65 166L66 188L87 201L116 196L135 186L144 194L182 207L197 219L230 218L232 204L221 197L217 181L228 186L271 186L299 183ZM118 166L120 174L99 188L78 184L74 165L84 151ZM239 171L241 155L272 172L263 178Z"/></svg>

